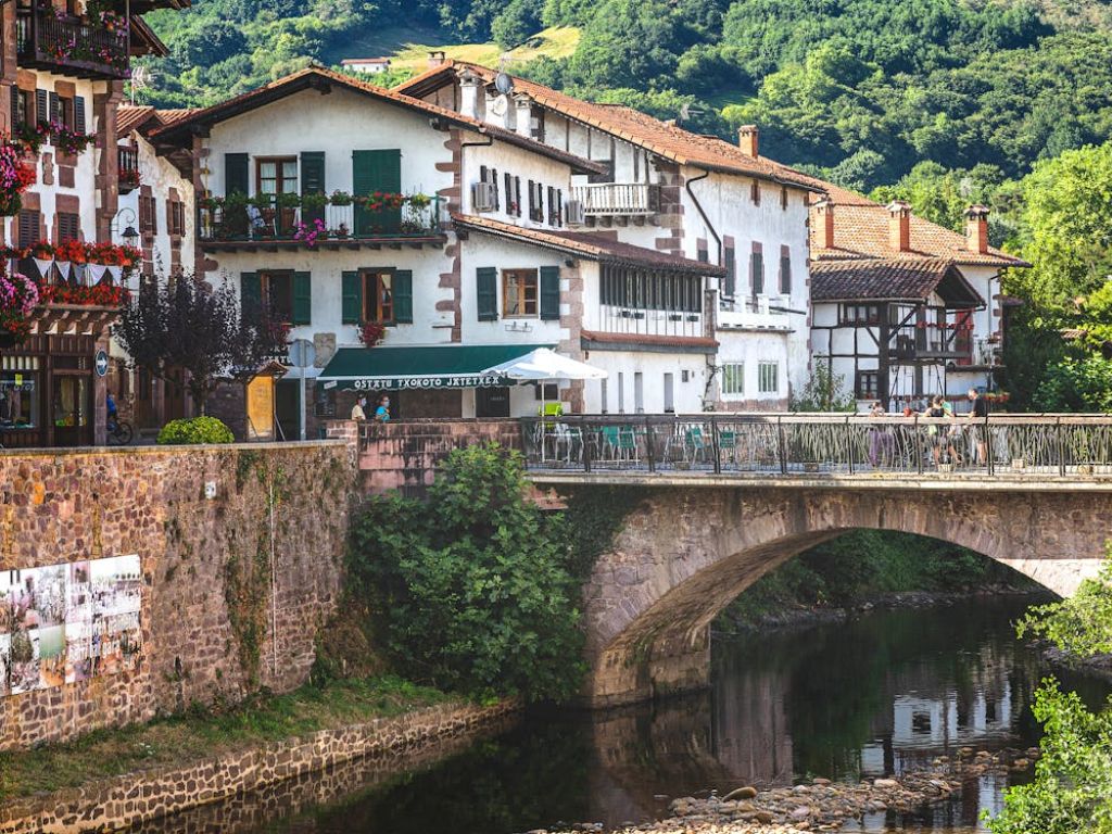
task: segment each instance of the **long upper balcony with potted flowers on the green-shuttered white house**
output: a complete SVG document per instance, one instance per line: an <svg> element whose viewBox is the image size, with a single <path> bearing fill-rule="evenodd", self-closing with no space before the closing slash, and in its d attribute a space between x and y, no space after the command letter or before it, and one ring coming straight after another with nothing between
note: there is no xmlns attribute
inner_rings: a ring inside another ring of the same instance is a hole
<svg viewBox="0 0 1112 834"><path fill-rule="evenodd" d="M302 200L305 205L296 205ZM401 198L397 208L374 208L378 203L358 198L345 202L322 196L280 202L241 195L207 198L200 201L199 237L206 251L420 249L446 240L438 197Z"/></svg>

